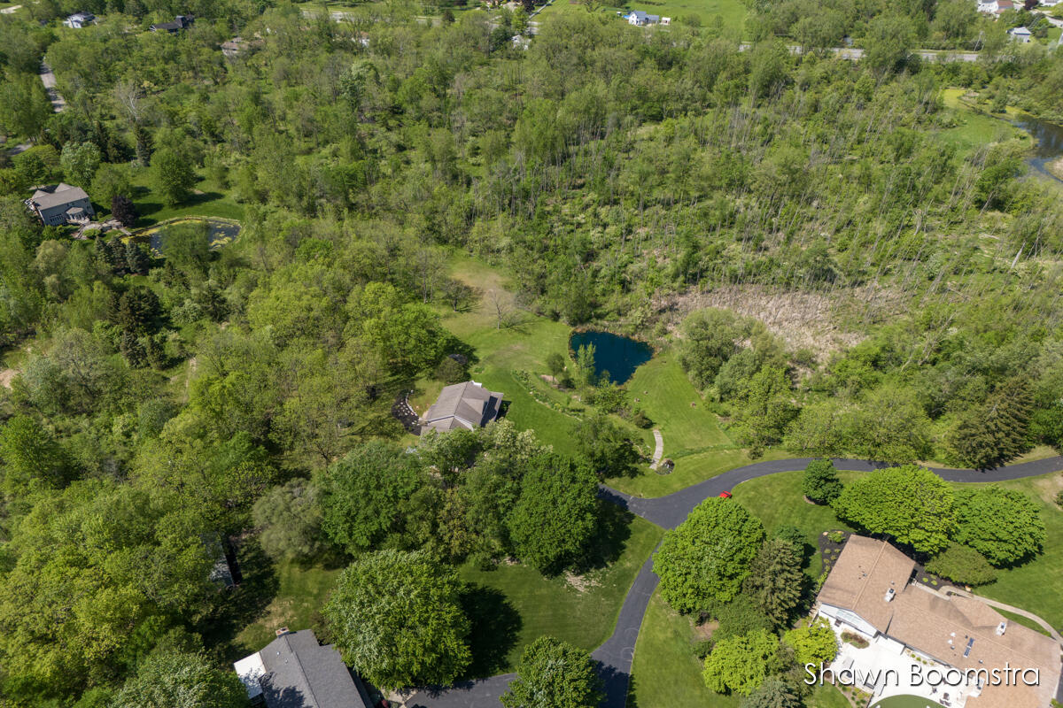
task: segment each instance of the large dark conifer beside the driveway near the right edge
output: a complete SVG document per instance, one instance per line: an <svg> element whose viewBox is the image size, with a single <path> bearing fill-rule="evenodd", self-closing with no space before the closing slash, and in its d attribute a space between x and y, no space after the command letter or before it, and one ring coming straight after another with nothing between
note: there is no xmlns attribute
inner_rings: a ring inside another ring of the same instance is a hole
<svg viewBox="0 0 1063 708"><path fill-rule="evenodd" d="M1014 460L1030 448L1033 393L1023 378L1002 383L985 404L969 412L951 435L957 459L976 469Z"/></svg>

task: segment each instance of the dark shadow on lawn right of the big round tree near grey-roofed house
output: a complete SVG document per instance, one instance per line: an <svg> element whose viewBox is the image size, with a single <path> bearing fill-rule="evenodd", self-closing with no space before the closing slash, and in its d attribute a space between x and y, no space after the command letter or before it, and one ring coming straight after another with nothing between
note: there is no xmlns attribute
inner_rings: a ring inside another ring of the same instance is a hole
<svg viewBox="0 0 1063 708"><path fill-rule="evenodd" d="M493 676L508 669L508 655L523 626L520 614L506 595L485 585L468 585L461 593L472 631L469 645L472 664L465 678Z"/></svg>

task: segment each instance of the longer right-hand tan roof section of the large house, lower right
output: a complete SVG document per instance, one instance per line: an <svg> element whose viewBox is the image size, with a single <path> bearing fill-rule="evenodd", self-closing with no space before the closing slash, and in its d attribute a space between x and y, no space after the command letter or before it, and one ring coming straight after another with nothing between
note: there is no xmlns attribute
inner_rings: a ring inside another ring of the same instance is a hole
<svg viewBox="0 0 1063 708"><path fill-rule="evenodd" d="M972 598L944 598L921 585L909 585L895 601L890 637L943 663L966 669L1040 669L1037 686L990 683L967 708L1041 708L1056 695L1060 646L1049 637L1008 622L989 605ZM997 634L1003 623L1003 634Z"/></svg>

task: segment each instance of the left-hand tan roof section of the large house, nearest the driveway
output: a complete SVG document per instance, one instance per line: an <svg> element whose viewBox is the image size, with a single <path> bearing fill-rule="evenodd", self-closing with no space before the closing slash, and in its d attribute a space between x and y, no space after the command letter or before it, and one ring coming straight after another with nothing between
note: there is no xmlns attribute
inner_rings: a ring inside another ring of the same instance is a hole
<svg viewBox="0 0 1063 708"><path fill-rule="evenodd" d="M914 560L884 541L849 536L820 590L820 602L849 609L884 633L896 608L894 599L914 568Z"/></svg>

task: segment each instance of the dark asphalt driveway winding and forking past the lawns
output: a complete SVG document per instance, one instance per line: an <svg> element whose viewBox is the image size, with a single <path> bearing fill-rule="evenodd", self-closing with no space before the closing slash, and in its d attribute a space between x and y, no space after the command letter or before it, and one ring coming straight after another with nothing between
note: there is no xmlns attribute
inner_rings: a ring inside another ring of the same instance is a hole
<svg viewBox="0 0 1063 708"><path fill-rule="evenodd" d="M804 469L813 459L794 457L757 462L731 469L665 497L652 499L632 497L606 485L601 485L598 496L663 529L674 529L705 499L715 497L721 491L729 491L742 482ZM857 472L896 466L867 460L836 459L833 462L838 469ZM1048 457L985 470L939 467L929 469L948 482L1008 482L1061 471L1063 457ZM642 618L649 604L649 598L657 589L658 582L659 579L653 570L653 554L651 554L642 564L639 574L624 598L612 636L591 654L597 662L598 675L605 686L602 708L625 708L631 660L635 657L635 642L639 637L639 628L642 626ZM475 681L463 681L453 687L420 691L407 705L424 708L494 708L500 705L500 696L514 676L516 674L504 674Z"/></svg>

